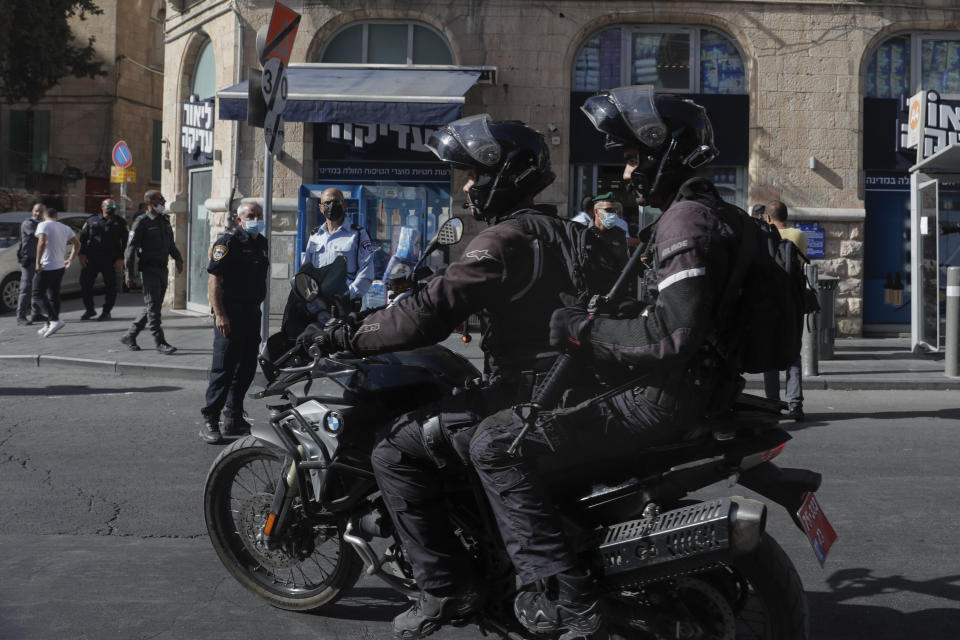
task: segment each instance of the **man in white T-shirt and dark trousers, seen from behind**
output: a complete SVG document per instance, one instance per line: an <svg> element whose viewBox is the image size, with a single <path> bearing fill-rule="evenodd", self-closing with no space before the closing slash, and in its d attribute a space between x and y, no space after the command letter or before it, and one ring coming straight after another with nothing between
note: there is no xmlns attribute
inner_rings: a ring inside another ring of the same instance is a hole
<svg viewBox="0 0 960 640"><path fill-rule="evenodd" d="M47 316L46 324L37 333L46 338L63 328L63 321L60 320L60 283L63 273L80 251L80 241L73 229L57 222L55 209L43 212L43 222L37 226L36 236L37 275L33 288L39 293L40 308ZM70 255L65 258L68 244L71 247Z"/></svg>

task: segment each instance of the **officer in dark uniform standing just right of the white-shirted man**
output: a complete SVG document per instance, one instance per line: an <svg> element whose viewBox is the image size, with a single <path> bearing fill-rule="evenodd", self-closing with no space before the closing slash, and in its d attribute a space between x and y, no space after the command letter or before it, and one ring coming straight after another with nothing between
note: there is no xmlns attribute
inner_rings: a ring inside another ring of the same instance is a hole
<svg viewBox="0 0 960 640"><path fill-rule="evenodd" d="M97 320L109 320L117 301L117 274L123 271L123 252L127 248L127 224L116 215L117 203L107 198L100 215L90 216L80 230L80 291L86 311L81 320L97 316L93 306L93 283L103 277L103 310Z"/></svg>

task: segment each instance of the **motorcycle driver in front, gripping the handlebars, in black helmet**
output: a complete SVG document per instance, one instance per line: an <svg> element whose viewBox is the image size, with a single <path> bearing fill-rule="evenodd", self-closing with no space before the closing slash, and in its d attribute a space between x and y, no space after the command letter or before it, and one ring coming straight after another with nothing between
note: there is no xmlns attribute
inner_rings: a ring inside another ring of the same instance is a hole
<svg viewBox="0 0 960 640"><path fill-rule="evenodd" d="M329 330L318 345L372 355L439 342L470 314L484 312L488 319L484 384L402 417L373 451L384 502L422 590L419 602L394 620L396 636L404 639L423 637L482 604L481 579L443 507L442 477L465 469L470 437L483 417L529 399L536 373L555 355L550 314L562 306L561 292L575 293L561 252L529 230L539 225L559 235L574 224L558 218L554 207L533 204L555 179L541 134L482 114L441 128L427 146L466 172L467 206L491 226L442 276L355 329Z"/></svg>

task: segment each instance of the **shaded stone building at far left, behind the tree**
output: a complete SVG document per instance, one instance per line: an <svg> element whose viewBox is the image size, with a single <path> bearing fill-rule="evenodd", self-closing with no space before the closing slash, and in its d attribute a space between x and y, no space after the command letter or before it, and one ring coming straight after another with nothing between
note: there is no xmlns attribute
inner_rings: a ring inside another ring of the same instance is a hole
<svg viewBox="0 0 960 640"><path fill-rule="evenodd" d="M125 140L136 181L127 184L127 218L143 193L160 187L163 103L163 0L98 0L101 15L75 17L79 42L96 39L106 76L64 78L36 105L0 106L0 188L9 210L42 196L66 211L99 211L109 195L111 150Z"/></svg>

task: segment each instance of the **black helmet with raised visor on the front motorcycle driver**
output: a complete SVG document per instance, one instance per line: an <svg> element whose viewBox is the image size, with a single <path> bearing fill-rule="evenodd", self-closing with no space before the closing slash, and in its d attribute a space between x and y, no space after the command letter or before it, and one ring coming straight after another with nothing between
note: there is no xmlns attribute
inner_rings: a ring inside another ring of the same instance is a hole
<svg viewBox="0 0 960 640"><path fill-rule="evenodd" d="M468 194L477 220L509 213L556 179L546 141L522 122L468 116L440 128L426 146L450 166L477 174Z"/></svg>

